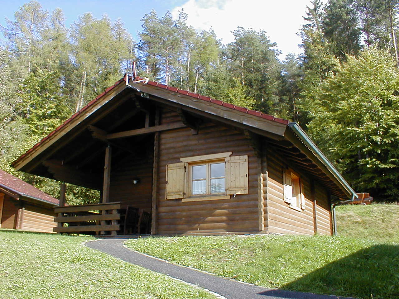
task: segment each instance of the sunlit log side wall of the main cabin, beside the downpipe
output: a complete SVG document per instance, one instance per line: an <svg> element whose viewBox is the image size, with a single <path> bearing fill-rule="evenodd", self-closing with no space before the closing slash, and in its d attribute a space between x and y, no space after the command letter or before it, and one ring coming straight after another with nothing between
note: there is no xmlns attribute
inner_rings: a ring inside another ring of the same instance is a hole
<svg viewBox="0 0 399 299"><path fill-rule="evenodd" d="M297 211L289 207L284 202L283 196L283 169L286 165L279 158L280 154L271 148L267 148L267 203L265 203L265 228L271 233L282 234L314 234L314 213L313 202L311 200L310 178L302 174L301 182L303 185L303 194L305 197L305 210ZM266 193L266 192L265 192ZM317 218L316 224L318 233L331 234L330 223L331 213L330 205L326 191L316 183L316 203ZM266 219L268 221L266 221Z"/></svg>

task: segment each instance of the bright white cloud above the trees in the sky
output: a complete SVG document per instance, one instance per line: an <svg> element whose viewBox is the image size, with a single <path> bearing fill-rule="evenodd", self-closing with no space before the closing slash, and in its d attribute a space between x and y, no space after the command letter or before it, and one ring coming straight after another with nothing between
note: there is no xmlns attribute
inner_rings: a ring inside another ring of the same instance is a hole
<svg viewBox="0 0 399 299"><path fill-rule="evenodd" d="M310 6L310 0L189 0L174 8L172 15L176 18L184 8L188 24L197 30L212 27L223 43L234 40L231 31L237 26L265 30L282 51L280 59L284 59L288 53L301 52L301 39L296 33L304 23L306 6Z"/></svg>

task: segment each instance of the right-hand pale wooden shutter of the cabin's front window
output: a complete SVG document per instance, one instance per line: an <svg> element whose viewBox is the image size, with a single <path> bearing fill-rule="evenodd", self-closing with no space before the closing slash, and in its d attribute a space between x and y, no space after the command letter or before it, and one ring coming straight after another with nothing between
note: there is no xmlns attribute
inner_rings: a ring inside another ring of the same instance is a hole
<svg viewBox="0 0 399 299"><path fill-rule="evenodd" d="M248 156L226 157L226 195L248 194Z"/></svg>

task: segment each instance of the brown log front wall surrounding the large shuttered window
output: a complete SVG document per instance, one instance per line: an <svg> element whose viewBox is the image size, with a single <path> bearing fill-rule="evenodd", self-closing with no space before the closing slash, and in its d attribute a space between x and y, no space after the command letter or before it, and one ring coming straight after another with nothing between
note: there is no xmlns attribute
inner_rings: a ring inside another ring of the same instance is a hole
<svg viewBox="0 0 399 299"><path fill-rule="evenodd" d="M164 109L161 124L180 122L176 111ZM232 151L232 156L248 155L249 194L230 199L182 202L165 199L166 165L182 157ZM224 234L259 232L259 163L243 132L204 123L199 134L190 128L160 133L158 165L158 234Z"/></svg>

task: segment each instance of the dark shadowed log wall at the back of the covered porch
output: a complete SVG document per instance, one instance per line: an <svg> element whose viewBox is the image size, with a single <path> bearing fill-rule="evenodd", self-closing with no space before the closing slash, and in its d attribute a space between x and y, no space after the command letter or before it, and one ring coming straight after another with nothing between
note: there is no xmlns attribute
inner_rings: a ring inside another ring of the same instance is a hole
<svg viewBox="0 0 399 299"><path fill-rule="evenodd" d="M153 151L151 146L145 159L128 154L118 165L111 165L110 202L120 201L122 206L130 205L151 212ZM133 184L136 178L140 182Z"/></svg>

